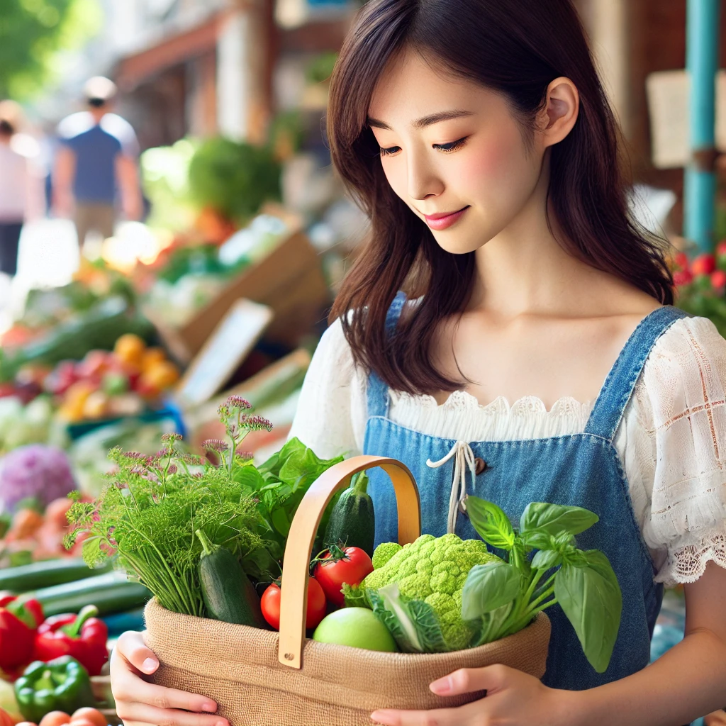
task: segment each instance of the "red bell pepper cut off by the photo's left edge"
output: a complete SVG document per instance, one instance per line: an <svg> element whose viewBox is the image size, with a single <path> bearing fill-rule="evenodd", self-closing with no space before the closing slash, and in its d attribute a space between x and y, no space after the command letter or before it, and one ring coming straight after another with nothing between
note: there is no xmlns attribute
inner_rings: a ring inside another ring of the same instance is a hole
<svg viewBox="0 0 726 726"><path fill-rule="evenodd" d="M0 597L0 670L15 680L15 671L33 660L36 629L43 622L38 600Z"/></svg>

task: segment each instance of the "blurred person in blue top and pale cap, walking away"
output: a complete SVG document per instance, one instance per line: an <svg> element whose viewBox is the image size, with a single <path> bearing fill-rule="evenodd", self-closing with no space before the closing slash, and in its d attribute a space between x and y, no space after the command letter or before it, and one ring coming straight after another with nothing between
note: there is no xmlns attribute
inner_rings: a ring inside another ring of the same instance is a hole
<svg viewBox="0 0 726 726"><path fill-rule="evenodd" d="M81 250L87 232L113 235L118 208L126 219L140 219L139 144L131 124L111 113L116 86L102 76L83 86L87 110L58 125L60 150L53 174L53 208L73 216Z"/></svg>

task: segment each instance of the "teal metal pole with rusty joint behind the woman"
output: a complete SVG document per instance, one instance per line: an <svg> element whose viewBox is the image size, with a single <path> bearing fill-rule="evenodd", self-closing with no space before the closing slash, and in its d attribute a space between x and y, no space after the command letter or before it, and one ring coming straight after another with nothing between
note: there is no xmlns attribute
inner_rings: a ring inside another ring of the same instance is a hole
<svg viewBox="0 0 726 726"><path fill-rule="evenodd" d="M684 233L702 252L710 252L714 247L719 4L719 0L688 0L686 17L691 160L684 180Z"/></svg>

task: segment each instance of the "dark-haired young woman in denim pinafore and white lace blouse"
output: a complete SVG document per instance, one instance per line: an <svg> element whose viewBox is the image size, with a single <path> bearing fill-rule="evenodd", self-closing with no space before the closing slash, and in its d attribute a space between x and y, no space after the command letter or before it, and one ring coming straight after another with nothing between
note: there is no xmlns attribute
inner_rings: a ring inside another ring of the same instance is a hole
<svg viewBox="0 0 726 726"><path fill-rule="evenodd" d="M405 462L437 536L473 536L468 493L515 518L531 501L594 510L581 544L608 555L624 598L605 674L555 612L544 682L462 670L432 690L486 698L372 719L677 726L723 706L726 342L671 306L662 249L629 219L570 2L371 0L340 53L328 129L372 234L291 435L322 456ZM378 542L396 536L384 480L372 473ZM676 582L685 639L646 668L662 583ZM208 699L138 677L156 667L140 635L121 638L127 724L224 725L179 710L214 711Z"/></svg>

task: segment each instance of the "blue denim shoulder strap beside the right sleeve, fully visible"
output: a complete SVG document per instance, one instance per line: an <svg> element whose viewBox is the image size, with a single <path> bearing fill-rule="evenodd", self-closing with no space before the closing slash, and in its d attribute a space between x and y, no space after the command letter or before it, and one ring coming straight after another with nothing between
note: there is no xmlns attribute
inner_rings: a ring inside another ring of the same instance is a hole
<svg viewBox="0 0 726 726"><path fill-rule="evenodd" d="M592 433L611 441L618 430L628 401L640 378L645 361L653 350L656 340L688 313L666 305L654 310L640 321L625 343L618 359L605 378L603 388L597 396L585 433Z"/></svg>

